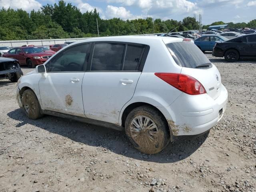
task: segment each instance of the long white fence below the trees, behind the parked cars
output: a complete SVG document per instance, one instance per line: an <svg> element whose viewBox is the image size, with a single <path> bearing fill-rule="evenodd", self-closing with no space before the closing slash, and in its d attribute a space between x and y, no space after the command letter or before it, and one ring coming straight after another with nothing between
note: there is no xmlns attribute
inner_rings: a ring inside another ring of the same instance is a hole
<svg viewBox="0 0 256 192"><path fill-rule="evenodd" d="M136 36L146 36L146 35L154 35L154 34L142 34ZM9 47L20 47L22 45L30 44L35 46L42 45L54 45L54 44L62 44L64 42L76 42L79 40L90 39L89 38L74 38L74 39L40 39L40 40L14 40L14 41L0 41L0 46L9 46Z"/></svg>

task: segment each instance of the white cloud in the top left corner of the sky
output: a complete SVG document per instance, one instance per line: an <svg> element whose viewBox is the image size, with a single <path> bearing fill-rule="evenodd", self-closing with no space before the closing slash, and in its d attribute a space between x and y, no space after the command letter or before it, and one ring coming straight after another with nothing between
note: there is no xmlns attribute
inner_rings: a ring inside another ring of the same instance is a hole
<svg viewBox="0 0 256 192"><path fill-rule="evenodd" d="M6 9L13 8L13 9L22 9L30 12L31 10L38 10L42 7L36 0L0 0L0 7L4 7Z"/></svg>

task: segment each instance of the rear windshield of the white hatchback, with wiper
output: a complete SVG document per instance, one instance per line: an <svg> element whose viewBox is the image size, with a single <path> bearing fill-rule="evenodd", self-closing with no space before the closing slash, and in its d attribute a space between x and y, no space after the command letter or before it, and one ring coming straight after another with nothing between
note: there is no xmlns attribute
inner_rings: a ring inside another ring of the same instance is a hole
<svg viewBox="0 0 256 192"><path fill-rule="evenodd" d="M166 44L172 58L182 67L210 68L211 62L204 53L191 42L175 42Z"/></svg>

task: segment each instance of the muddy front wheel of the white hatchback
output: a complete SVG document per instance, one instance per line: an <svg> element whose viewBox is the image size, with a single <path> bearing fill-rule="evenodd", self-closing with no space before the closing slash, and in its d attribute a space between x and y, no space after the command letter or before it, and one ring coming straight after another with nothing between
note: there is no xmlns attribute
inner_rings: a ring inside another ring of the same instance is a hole
<svg viewBox="0 0 256 192"><path fill-rule="evenodd" d="M43 115L40 113L40 105L37 100L36 94L31 89L23 92L21 98L23 110L30 119L38 119Z"/></svg>

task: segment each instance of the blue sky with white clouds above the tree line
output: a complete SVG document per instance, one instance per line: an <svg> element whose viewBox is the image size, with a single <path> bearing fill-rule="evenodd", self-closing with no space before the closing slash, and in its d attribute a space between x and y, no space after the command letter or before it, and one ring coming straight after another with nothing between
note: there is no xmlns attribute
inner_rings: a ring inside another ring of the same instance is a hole
<svg viewBox="0 0 256 192"><path fill-rule="evenodd" d="M182 20L190 16L202 24L215 21L249 22L256 19L256 0L67 0L77 6L81 12L96 8L100 17L126 19L161 18L163 20ZM22 8L30 12L46 4L58 4L58 0L0 0L0 7Z"/></svg>

